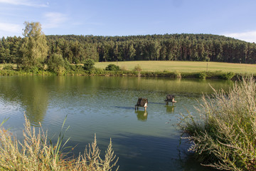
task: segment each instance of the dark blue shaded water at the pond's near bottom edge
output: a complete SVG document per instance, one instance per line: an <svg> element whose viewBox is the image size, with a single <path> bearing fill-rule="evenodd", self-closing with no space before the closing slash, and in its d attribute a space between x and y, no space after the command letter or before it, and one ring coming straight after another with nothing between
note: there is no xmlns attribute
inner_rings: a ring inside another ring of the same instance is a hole
<svg viewBox="0 0 256 171"><path fill-rule="evenodd" d="M120 134L113 138L113 143L121 149L115 151L119 156L119 170L210 170L196 162L191 152L182 150L184 147L173 138Z"/></svg>

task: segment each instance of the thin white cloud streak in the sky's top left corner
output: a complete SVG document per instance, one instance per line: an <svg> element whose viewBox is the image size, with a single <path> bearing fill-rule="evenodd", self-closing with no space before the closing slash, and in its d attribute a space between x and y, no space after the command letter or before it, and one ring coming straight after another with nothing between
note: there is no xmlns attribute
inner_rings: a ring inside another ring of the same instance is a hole
<svg viewBox="0 0 256 171"><path fill-rule="evenodd" d="M23 6L33 6L33 7L46 7L47 4L43 4L39 1L32 0L0 0L0 4L12 4L12 5L23 5Z"/></svg>

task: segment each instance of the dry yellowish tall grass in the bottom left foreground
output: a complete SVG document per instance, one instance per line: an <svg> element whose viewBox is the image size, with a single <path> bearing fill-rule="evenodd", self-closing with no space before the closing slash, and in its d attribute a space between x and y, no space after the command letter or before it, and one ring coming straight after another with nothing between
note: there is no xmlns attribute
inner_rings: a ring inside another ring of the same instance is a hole
<svg viewBox="0 0 256 171"><path fill-rule="evenodd" d="M63 129L53 145L42 127L38 131L31 128L26 116L24 126L20 142L0 125L0 170L112 170L117 165L111 139L104 159L100 157L96 136L82 155L67 157L63 149L68 140L63 143Z"/></svg>

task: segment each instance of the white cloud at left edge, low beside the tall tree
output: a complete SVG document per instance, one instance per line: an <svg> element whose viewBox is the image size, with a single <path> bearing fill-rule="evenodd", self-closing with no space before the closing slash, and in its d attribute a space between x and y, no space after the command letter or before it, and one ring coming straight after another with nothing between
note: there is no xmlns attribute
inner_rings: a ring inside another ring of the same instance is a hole
<svg viewBox="0 0 256 171"><path fill-rule="evenodd" d="M18 24L0 23L0 35L21 35L22 26Z"/></svg>

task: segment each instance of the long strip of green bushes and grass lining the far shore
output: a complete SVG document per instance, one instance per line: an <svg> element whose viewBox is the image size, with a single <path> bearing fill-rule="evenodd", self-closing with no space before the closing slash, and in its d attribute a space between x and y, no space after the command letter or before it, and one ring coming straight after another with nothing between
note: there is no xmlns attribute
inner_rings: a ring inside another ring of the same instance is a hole
<svg viewBox="0 0 256 171"><path fill-rule="evenodd" d="M65 64L59 63L53 65L53 61L49 62L49 66L44 68L33 68L28 71L21 69L15 69L14 67L6 67L0 69L0 76L22 76L22 75L43 75L43 76L142 76L142 77L166 77L166 78L200 78L200 79L237 79L244 74L238 73L223 73L220 71L215 72L200 72L200 73L180 73L179 71L127 71L125 69L115 69L113 66L107 67L107 69L95 68L91 61L87 61L84 66L73 65L64 61Z"/></svg>

